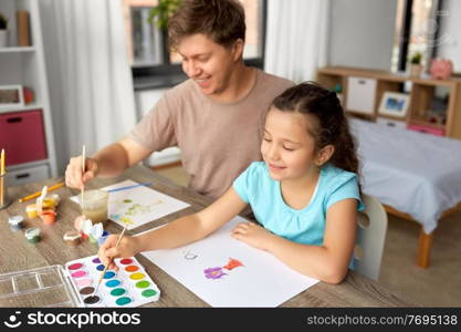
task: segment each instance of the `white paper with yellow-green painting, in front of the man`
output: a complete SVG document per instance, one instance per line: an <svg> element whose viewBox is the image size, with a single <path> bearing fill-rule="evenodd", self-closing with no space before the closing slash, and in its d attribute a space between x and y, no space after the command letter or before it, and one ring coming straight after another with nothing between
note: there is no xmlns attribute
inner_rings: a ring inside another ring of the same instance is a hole
<svg viewBox="0 0 461 332"><path fill-rule="evenodd" d="M133 180L111 185L103 190L109 190L126 186L137 185ZM78 196L71 199L78 204ZM159 219L172 212L187 208L190 204L161 194L151 188L140 186L132 189L109 193L107 215L121 226L134 229L146 222Z"/></svg>

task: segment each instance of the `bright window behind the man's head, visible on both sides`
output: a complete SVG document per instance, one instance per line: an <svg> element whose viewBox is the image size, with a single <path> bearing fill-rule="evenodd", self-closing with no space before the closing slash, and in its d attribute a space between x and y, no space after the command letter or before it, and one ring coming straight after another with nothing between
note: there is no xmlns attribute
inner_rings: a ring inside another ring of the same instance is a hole
<svg viewBox="0 0 461 332"><path fill-rule="evenodd" d="M266 0L239 0L245 10L247 35L243 58L262 68L264 54ZM177 71L180 56L169 53L161 31L147 22L157 0L123 0L128 59L134 69L171 68Z"/></svg>

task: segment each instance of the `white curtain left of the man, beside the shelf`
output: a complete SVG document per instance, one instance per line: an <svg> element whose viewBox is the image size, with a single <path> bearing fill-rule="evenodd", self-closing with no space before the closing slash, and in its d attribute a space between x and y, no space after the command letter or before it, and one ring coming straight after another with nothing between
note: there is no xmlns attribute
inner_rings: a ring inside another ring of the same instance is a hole
<svg viewBox="0 0 461 332"><path fill-rule="evenodd" d="M136 123L122 0L41 0L57 169Z"/></svg>

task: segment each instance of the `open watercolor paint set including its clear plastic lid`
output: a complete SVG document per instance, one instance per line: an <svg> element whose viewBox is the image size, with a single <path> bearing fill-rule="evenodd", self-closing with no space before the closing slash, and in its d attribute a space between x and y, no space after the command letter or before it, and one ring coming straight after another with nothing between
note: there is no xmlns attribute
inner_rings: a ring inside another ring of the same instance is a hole
<svg viewBox="0 0 461 332"><path fill-rule="evenodd" d="M136 258L115 259L93 294L104 266L96 256L0 274L0 307L139 307L160 298L160 290Z"/></svg>

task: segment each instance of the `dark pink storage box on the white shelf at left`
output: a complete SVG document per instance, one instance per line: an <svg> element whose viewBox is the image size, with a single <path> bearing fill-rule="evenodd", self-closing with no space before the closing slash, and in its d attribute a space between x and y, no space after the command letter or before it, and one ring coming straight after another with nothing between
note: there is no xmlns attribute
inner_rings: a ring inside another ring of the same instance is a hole
<svg viewBox="0 0 461 332"><path fill-rule="evenodd" d="M1 147L8 152L8 165L48 158L42 111L0 114Z"/></svg>

